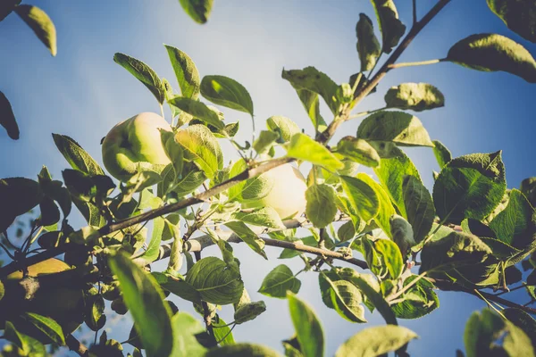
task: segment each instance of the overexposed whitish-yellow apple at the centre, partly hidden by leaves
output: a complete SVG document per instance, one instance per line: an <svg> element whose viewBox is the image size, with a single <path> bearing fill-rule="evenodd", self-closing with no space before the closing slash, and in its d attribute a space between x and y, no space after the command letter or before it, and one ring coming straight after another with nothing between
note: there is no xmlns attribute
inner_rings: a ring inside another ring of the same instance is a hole
<svg viewBox="0 0 536 357"><path fill-rule="evenodd" d="M289 163L278 166L261 175L272 182L268 195L254 202L242 204L243 208L272 207L282 220L301 216L306 211L306 179Z"/></svg>

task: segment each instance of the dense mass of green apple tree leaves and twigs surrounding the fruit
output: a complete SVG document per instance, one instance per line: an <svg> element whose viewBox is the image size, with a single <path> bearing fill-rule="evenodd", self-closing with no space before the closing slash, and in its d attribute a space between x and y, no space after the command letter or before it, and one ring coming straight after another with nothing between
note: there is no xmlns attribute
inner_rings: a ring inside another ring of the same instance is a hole
<svg viewBox="0 0 536 357"><path fill-rule="evenodd" d="M441 0L437 6L440 9L447 3ZM206 16L199 16L198 11L208 13L212 2L181 4L204 22ZM71 344L71 332L82 321L96 333L104 328L105 300L109 300L116 313L131 313L134 324L123 344L134 346L135 356L141 350L147 356L279 355L262 345L234 341L232 328L254 320L266 305L252 302L247 294L239 259L229 243L233 240L245 242L264 259L264 245L285 243L280 259L299 257L304 262L304 269L297 273L285 264L277 266L258 287L262 295L289 301L296 330L295 336L283 341L289 356L324 353L322 325L296 295L301 287L297 277L304 272L318 274L323 303L341 318L364 323L366 311L377 310L386 321L386 326L365 328L350 337L339 346L337 356L405 353L416 335L399 327L398 320L418 319L437 309L440 302L434 289L438 287L484 298L482 294L490 295L481 293L482 289L507 291L508 286L520 283L521 266L532 272L520 286L536 297L536 179L524 180L519 189L507 189L500 152L452 158L445 145L431 140L421 120L408 111L443 106L444 95L437 87L402 83L389 88L385 108L364 114L368 116L355 136L326 145L331 137L325 133L333 123L349 120L360 94L373 91L376 62L381 54L400 48L406 31L393 1L373 0L372 4L381 40L374 35L373 21L361 14L356 26L361 69L348 83L338 85L314 67L282 72L282 78L296 89L314 136L306 135L288 118L272 116L255 140L239 143L234 139L239 123L226 123L223 112L199 99L202 96L213 104L246 112L253 120L253 101L239 82L216 75L201 79L188 54L165 46L180 87L178 95L146 63L115 54L113 60L143 83L161 106L169 105L173 130L162 133L162 145L172 163L161 167L139 162L135 175L117 187L76 141L54 134L55 145L71 165L63 170L63 182L52 179L45 167L38 180L0 180L0 208L5 212L0 232L13 248L5 248L13 262L0 269L4 281L0 317L4 337L13 343L4 353L44 355L43 344L77 348ZM515 1L489 0L489 4L510 28L535 40L533 17L525 16L533 10L532 4L526 3L526 8ZM445 60L536 81L531 54L499 35L467 37L451 47ZM388 69L383 66L379 71L385 74ZM320 98L333 115L329 123L321 115ZM224 166L219 140L229 140L241 159ZM434 173L431 192L401 149L405 146L433 150L440 172ZM275 158L280 151L286 153L284 158ZM306 221L298 220L310 235L302 238L296 237L297 220L284 220L272 207L245 208L267 195L272 185L262 175L251 173L263 173L262 168L274 162L292 161L312 164L306 179ZM371 168L378 181L357 172L360 165ZM71 227L72 203L88 226ZM188 211L196 203L197 209ZM21 246L12 244L8 228L37 206L40 213L31 222L28 237ZM150 237L147 220L153 221ZM188 227L185 232L180 231L180 222ZM199 232L201 236L193 237ZM35 242L38 248L33 247ZM217 245L222 259L201 258L199 251L208 245ZM190 252L196 252L197 262ZM316 252L319 257L311 259L305 252ZM361 266L370 272L339 267L322 255L337 253L331 256L355 262L355 252L364 257ZM64 253L70 270L32 276L29 262L42 262L59 253ZM152 262L167 257L166 270L147 271ZM324 265L329 269L322 269ZM418 274L412 271L415 265ZM16 270L22 273L11 275L16 280L13 284L7 275ZM69 316L68 321L38 309L44 302L40 300L43 292L57 291L62 285L82 296L77 309L80 316ZM205 326L178 311L166 300L168 295L192 303ZM27 303L15 309L10 304L13 299ZM217 312L225 305L234 310L230 323ZM490 303L494 309L496 305ZM76 326L66 323L72 321ZM475 313L467 323L465 353L534 355L535 325L520 309ZM123 355L123 344L103 333L89 353Z"/></svg>

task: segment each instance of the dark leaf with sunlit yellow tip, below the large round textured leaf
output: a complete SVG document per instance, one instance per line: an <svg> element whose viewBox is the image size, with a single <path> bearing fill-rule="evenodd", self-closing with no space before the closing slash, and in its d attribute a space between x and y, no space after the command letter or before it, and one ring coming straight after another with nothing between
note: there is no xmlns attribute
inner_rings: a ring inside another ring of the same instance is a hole
<svg viewBox="0 0 536 357"><path fill-rule="evenodd" d="M453 231L439 240L424 245L421 253L421 273L428 270L451 270L465 264L483 262L491 253L479 237Z"/></svg>

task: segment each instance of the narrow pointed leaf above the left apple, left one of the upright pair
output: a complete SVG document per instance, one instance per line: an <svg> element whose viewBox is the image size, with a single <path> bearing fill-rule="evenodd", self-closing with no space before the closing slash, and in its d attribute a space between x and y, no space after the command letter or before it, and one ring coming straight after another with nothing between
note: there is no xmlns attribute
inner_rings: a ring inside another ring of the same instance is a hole
<svg viewBox="0 0 536 357"><path fill-rule="evenodd" d="M158 103L163 104L166 93L165 87L163 87L162 80L151 67L134 57L119 52L113 54L113 62L116 62L122 68L129 71L131 75L136 77L136 79L143 83L155 95Z"/></svg>

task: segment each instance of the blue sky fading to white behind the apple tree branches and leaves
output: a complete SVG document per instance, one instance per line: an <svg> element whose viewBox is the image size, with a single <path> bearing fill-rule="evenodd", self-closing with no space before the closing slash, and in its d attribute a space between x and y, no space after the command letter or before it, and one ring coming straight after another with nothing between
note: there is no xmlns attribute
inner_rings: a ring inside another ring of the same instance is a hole
<svg viewBox="0 0 536 357"><path fill-rule="evenodd" d="M417 1L419 16L435 2ZM402 21L410 25L411 1L396 3ZM54 21L58 54L51 57L15 14L0 22L0 90L11 101L21 129L19 141L12 141L0 130L2 178L35 178L41 165L61 178L61 170L68 164L56 150L51 133L74 138L102 163L100 139L116 122L138 112L159 112L153 95L113 62L113 54L130 54L147 62L178 88L163 44L186 52L202 76L221 74L247 87L255 105L257 129L264 128L268 117L284 115L311 134L313 127L306 112L293 88L281 79L281 70L312 65L338 83L348 82L348 77L359 70L355 34L359 13L365 12L374 19L372 5L365 0L216 0L204 26L191 21L177 0L35 0L33 4L43 8ZM399 61L442 58L456 41L482 32L511 37L536 54L536 46L509 31L484 0L454 0ZM389 72L377 93L358 110L383 106L386 90L408 81L431 83L445 95L444 108L417 116L432 139L442 141L454 156L502 149L508 187L519 187L522 179L536 176L532 141L536 118L531 104L536 98L536 86L502 72L471 71L440 63ZM246 114L223 112L229 122L240 120L239 138L250 137ZM329 116L324 113L327 120ZM169 112L166 115L169 118ZM339 129L339 136L355 135L357 125L356 120L346 123ZM223 147L226 160L234 158L229 146ZM421 170L425 184L431 187L431 170L439 169L431 149L407 153ZM83 224L80 219L70 221L77 227ZM207 252L217 253L214 249ZM268 307L253 322L235 328L235 339L281 350L281 340L293 334L287 302L255 293L264 276L281 263L277 260L280 252L268 248L268 262L244 247L237 246L235 252L242 261L243 278L252 299L262 299ZM284 263L295 272L301 269L299 258ZM367 314L370 323L366 325L343 320L323 306L316 274L302 274L299 278L299 295L314 305L322 320L327 355L361 328L383 323L377 313ZM526 303L523 294L518 296L520 303ZM180 310L191 311L188 303L178 305ZM400 320L401 325L421 336L408 351L415 356L453 356L456 348L463 348L465 321L483 306L470 295L440 293L440 309L420 320ZM222 317L231 320L231 310L225 307ZM125 340L131 326L129 319L128 315L122 319L109 336Z"/></svg>

